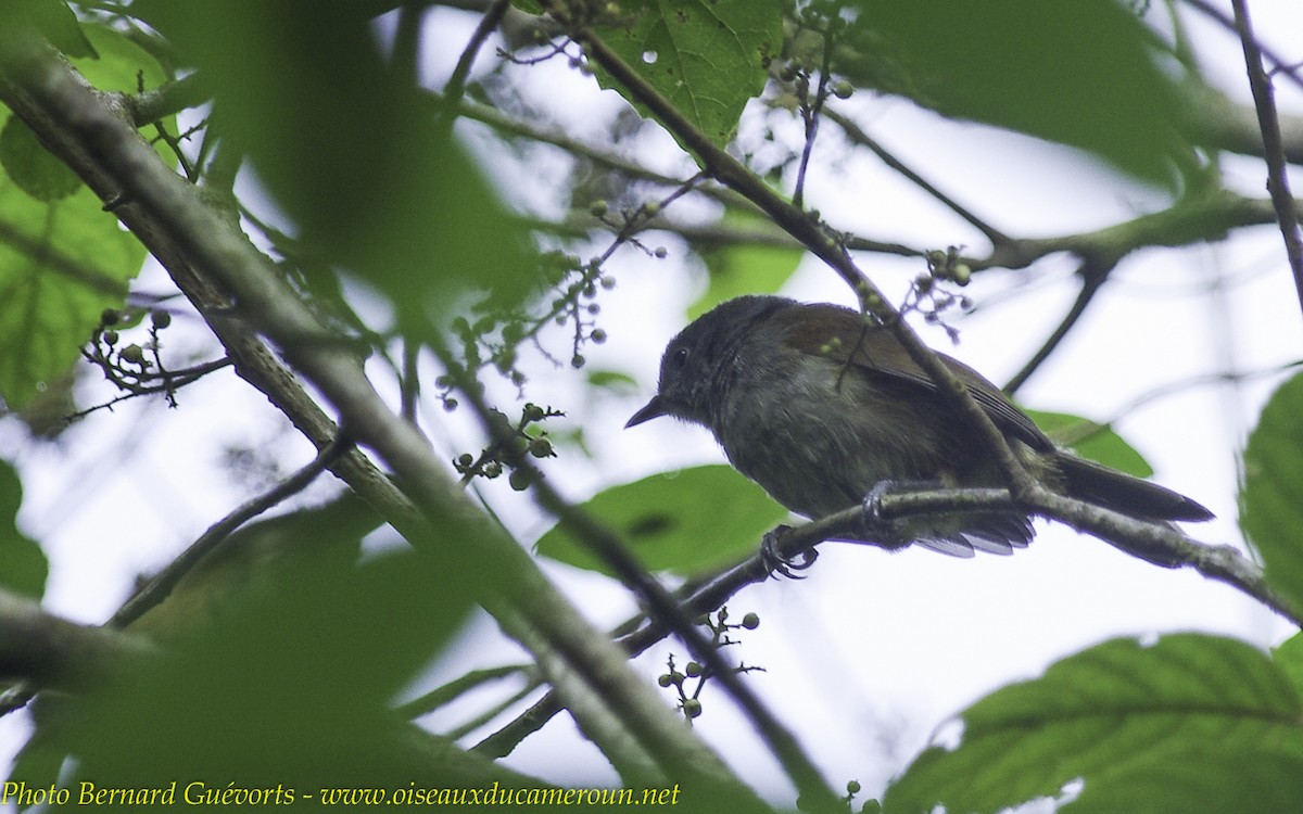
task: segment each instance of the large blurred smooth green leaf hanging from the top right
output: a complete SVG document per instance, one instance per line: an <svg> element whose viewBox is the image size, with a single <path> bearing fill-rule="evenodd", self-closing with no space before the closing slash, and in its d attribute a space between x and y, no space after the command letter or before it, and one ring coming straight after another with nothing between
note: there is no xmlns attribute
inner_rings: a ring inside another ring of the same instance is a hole
<svg viewBox="0 0 1303 814"><path fill-rule="evenodd" d="M834 63L857 85L1088 150L1149 182L1171 185L1174 167L1194 163L1177 132L1175 59L1119 3L859 7Z"/></svg>

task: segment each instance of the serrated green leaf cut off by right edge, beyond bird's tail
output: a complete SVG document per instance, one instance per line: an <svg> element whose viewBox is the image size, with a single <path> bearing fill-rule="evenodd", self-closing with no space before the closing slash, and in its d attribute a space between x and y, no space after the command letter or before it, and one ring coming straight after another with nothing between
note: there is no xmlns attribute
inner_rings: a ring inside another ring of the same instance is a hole
<svg viewBox="0 0 1303 814"><path fill-rule="evenodd" d="M1263 555L1268 582L1303 607L1303 374L1277 388L1248 435L1239 526Z"/></svg>

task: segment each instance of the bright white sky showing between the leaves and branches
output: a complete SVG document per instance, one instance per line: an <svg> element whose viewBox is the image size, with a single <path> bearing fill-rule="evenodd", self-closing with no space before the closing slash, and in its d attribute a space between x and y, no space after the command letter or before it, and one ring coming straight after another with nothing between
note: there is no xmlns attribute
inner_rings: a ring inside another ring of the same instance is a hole
<svg viewBox="0 0 1303 814"><path fill-rule="evenodd" d="M1289 61L1303 60L1303 8L1296 0L1259 0L1251 10L1264 42ZM1201 17L1187 13L1186 18L1214 83L1250 102L1239 43ZM433 86L442 86L476 18L444 10L429 22L427 77ZM493 59L491 44L480 66ZM606 119L623 105L614 92L598 91L593 79L562 60L517 73L532 89L532 102L545 105L572 135L599 138ZM1285 82L1277 83L1277 91L1283 111L1303 113L1303 94ZM1068 150L941 121L899 99L859 94L848 104L857 121L904 163L1015 236L1096 228L1162 206L1152 193ZM474 129L463 132L473 134ZM794 145L797 138L794 128ZM818 151L840 152L835 126L826 125L821 139ZM663 133L641 138L636 155L691 175ZM558 177L556 165L498 165L513 194L532 206L551 206L547 180ZM1226 167L1238 189L1261 194L1260 163L1227 159ZM1303 177L1296 175L1293 184L1296 195L1303 191ZM872 159L840 161L831 171L816 164L807 195L837 228L923 246L962 244L977 254L985 247L971 227ZM691 211L668 214L687 218ZM582 374L554 370L541 359L532 370L534 388L528 396L566 409L568 421L584 427L594 452L584 460L566 451L545 465L552 482L575 499L654 471L723 460L709 432L698 427L658 421L622 430L652 393L661 350L683 327L683 307L704 284L700 272L684 268L684 253L674 238L649 236L646 242L667 246L668 259L655 260L635 249L616 254L609 271L619 284L598 300L603 307L599 326L610 339L585 350L590 369L631 372L642 391L627 400L602 397L585 404ZM921 271L917 262L876 255L859 260L896 297ZM1071 270L1070 262L1050 258L1027 272L979 275L966 292L979 310L952 323L962 331L962 344L950 346L938 331L925 336L1001 383L1071 303L1076 294ZM1029 284L1019 288L1024 280ZM1209 296L1218 280L1222 293ZM165 290L168 284L155 268L138 288ZM1002 296L1006 292L1012 294ZM853 301L844 284L813 260L803 264L783 293ZM203 336L202 326L182 318L165 339L171 348L193 346L211 358L212 346ZM1243 231L1209 247L1151 250L1119 267L1020 400L1037 409L1110 418L1162 384L1296 359L1300 340L1303 315L1274 227ZM563 358L567 346L564 339L554 345ZM1157 470L1156 481L1218 514L1214 522L1190 527L1197 539L1238 542L1235 460L1244 432L1277 382L1263 378L1237 388L1187 389L1119 422L1118 430ZM87 387L83 401L91 401L91 393L103 397L104 391ZM263 484L236 483L222 470L225 445L281 451L288 466L310 456L306 442L287 431L266 400L232 374L188 388L180 401L180 410L130 402L112 414L96 414L68 434L61 451L29 447L13 426L0 426L0 455L14 460L23 475L21 525L51 555L50 610L102 621L137 573L165 563L259 490ZM431 426L446 418L437 404L427 405L426 414ZM455 414L451 428L433 428L444 457L480 448L466 432L469 426L468 415ZM546 529L532 503L504 482L490 484L486 494L523 539L533 540ZM1041 524L1040 529L1037 540L1012 557L956 560L928 551L887 555L869 547L825 546L809 578L748 587L730 602L735 617L747 611L761 616L760 629L739 637L744 643L735 655L765 668L747 680L796 729L835 787L859 779L866 794L876 794L950 715L1089 645L1115 636L1209 630L1270 646L1291 632L1252 600L1192 572L1140 563L1063 527ZM605 578L566 567L549 565L547 570L602 625L632 610L624 591ZM659 647L638 660L640 669L655 675L671 650L681 660L681 647ZM485 621L463 637L457 668L440 677L516 658L513 646ZM697 732L748 781L786 800L790 788L723 693L709 688L704 702ZM459 714L472 714L472 706L435 723L451 724L460 720ZM0 719L0 748L10 753L25 732L21 718ZM525 741L508 762L552 781L615 783L564 716Z"/></svg>

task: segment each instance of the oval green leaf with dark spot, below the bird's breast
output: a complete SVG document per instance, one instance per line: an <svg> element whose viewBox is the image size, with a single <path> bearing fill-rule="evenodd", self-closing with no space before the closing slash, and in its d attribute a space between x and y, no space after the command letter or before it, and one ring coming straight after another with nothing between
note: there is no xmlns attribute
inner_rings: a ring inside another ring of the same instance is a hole
<svg viewBox="0 0 1303 814"><path fill-rule="evenodd" d="M609 488L582 508L623 535L649 570L687 577L736 563L787 517L787 509L728 466L652 475ZM537 548L554 560L611 573L560 526Z"/></svg>

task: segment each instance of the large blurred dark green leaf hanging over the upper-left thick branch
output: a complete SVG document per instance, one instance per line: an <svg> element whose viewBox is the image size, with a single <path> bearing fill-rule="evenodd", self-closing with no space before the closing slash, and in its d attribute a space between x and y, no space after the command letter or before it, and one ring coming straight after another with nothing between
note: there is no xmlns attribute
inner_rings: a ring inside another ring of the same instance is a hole
<svg viewBox="0 0 1303 814"><path fill-rule="evenodd" d="M132 5L214 90L214 128L250 156L302 245L378 287L404 327L450 287L530 293L523 229L451 137L431 96L384 56L383 3ZM214 36L222 31L222 36Z"/></svg>

